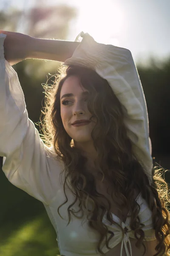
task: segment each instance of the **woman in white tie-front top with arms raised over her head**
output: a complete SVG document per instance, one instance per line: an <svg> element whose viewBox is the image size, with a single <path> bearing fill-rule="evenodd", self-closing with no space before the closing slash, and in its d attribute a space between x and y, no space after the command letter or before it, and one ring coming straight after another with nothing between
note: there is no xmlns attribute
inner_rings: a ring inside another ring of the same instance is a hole
<svg viewBox="0 0 170 256"><path fill-rule="evenodd" d="M60 253L170 255L170 214L154 180L165 182L152 175L146 102L131 52L83 33L81 43L0 33L3 172L44 204ZM45 143L11 67L25 58L65 61L64 76L46 87Z"/></svg>

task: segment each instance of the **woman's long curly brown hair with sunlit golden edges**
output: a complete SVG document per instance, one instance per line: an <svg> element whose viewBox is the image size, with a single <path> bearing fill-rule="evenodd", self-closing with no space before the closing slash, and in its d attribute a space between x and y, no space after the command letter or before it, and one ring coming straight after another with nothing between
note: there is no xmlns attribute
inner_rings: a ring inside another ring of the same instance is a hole
<svg viewBox="0 0 170 256"><path fill-rule="evenodd" d="M97 120L91 134L98 156L96 171L102 175L102 179L109 180L113 185L112 195L114 193L115 198L119 198L116 201L118 209L121 211L121 209L127 207L130 211L130 228L134 230L134 236L137 239L136 247L143 244L145 235L142 230L143 224L138 216L140 206L133 199L134 189L141 192L142 198L147 201L148 207L152 212L153 229L158 241L156 245L158 253L155 256L169 256L170 212L167 205L170 201L168 199L168 185L162 178L162 169L153 168L153 179L150 184L147 172L145 172L144 167L133 154L132 143L127 137L127 129L123 122L124 116L127 114L126 109L113 93L107 80L101 78L94 70L78 66L61 67L58 76L55 76L54 84L50 86L48 84L43 85L45 88L45 107L42 109L40 117L42 139L48 147L54 147L56 159L64 163L64 169L61 172L61 174L65 173L64 193L65 185L68 186L67 181L69 178L75 195L75 201L68 207L68 224L70 223L71 214L76 216L70 208L78 200L78 212L83 212L83 206L87 210L89 227L97 230L100 234L96 248L99 253L103 253L100 245L104 238L106 238L107 248L111 249L108 246L108 242L114 236L114 233L111 232L111 237L107 239L108 228L102 223L102 218L106 211L108 211L108 221L118 225L124 232L122 227L113 221L111 217L111 202L108 198L103 196L108 202L108 207L104 207L99 202L99 193L96 191L93 172L89 172L85 168L87 158L82 156L80 151L73 146L72 138L67 134L62 124L60 92L65 79L73 75L78 76L82 86L89 91L88 109ZM100 196L102 195L100 194ZM68 201L66 194L65 197L66 200L63 204ZM92 210L87 209L89 201L93 205ZM58 207L58 213L63 204ZM60 217L62 218L61 215ZM143 246L146 251L144 244Z"/></svg>

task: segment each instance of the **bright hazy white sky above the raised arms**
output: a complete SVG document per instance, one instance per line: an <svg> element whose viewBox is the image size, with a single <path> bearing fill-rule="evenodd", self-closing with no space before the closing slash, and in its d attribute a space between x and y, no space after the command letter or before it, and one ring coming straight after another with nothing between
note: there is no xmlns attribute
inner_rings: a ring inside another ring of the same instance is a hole
<svg viewBox="0 0 170 256"><path fill-rule="evenodd" d="M34 0L9 2L27 9ZM77 8L78 17L71 22L67 38L70 41L84 31L98 42L130 49L136 62L144 62L150 55L160 60L170 56L170 0L44 0L43 5L47 2Z"/></svg>

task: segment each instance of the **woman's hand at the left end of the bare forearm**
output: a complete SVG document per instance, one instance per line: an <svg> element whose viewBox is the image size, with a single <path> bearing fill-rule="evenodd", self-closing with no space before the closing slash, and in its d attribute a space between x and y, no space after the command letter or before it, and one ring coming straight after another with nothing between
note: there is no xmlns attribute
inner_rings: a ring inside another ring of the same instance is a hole
<svg viewBox="0 0 170 256"><path fill-rule="evenodd" d="M34 40L33 37L4 30L0 30L0 33L6 35L4 40L4 55L11 65L29 58L31 42Z"/></svg>

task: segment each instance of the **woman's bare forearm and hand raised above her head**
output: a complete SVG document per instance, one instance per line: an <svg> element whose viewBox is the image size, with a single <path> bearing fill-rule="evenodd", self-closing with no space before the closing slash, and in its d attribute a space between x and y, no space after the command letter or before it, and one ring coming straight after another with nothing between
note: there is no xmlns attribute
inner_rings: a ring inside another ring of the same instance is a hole
<svg viewBox="0 0 170 256"><path fill-rule="evenodd" d="M26 58L62 61L70 58L79 42L40 39L17 32L0 30L6 35L4 52L6 60L14 65Z"/></svg>

